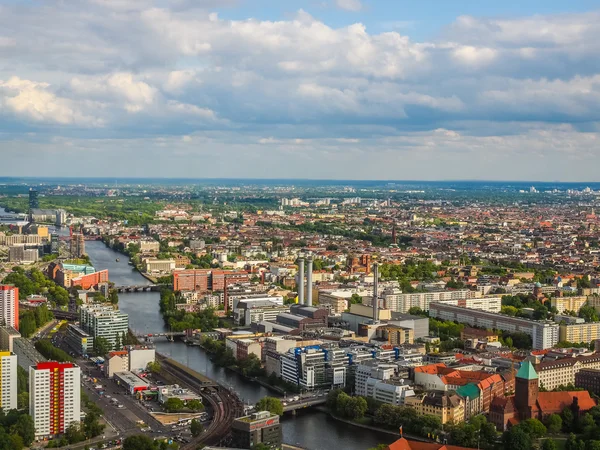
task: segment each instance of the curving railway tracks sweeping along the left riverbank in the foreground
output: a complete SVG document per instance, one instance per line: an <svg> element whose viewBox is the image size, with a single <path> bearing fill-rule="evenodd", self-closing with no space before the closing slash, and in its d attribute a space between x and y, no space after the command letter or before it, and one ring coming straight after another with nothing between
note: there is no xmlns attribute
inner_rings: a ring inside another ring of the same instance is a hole
<svg viewBox="0 0 600 450"><path fill-rule="evenodd" d="M213 420L205 431L182 446L181 450L195 450L200 444L214 445L221 442L229 434L236 415L241 412L237 397L221 387L207 387L182 368L170 364L168 359L161 361L161 367L165 372L181 380L186 387L198 391L214 412Z"/></svg>

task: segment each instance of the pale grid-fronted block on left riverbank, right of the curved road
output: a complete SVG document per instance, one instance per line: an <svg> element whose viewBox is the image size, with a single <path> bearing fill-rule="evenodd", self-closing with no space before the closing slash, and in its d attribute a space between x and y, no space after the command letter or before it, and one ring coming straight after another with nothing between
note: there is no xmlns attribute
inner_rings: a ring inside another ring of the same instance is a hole
<svg viewBox="0 0 600 450"><path fill-rule="evenodd" d="M81 329L94 339L103 337L114 348L117 336L122 339L129 330L129 315L112 306L82 305L79 310L79 324Z"/></svg>

